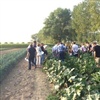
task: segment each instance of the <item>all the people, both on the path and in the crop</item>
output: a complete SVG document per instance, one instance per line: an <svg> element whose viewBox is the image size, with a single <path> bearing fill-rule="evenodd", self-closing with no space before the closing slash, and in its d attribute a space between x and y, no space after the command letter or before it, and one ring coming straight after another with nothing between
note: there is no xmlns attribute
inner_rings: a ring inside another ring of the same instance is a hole
<svg viewBox="0 0 100 100"><path fill-rule="evenodd" d="M46 50L47 45L43 43L37 43L36 41L30 43L27 47L27 59L29 62L28 69L31 69L31 66L42 67L42 64L45 60L45 56L48 55ZM96 41L93 43L82 43L80 46L74 41L70 45L64 44L62 42L57 42L52 47L52 54L54 58L57 58L61 61L64 61L66 58L66 53L70 56L80 57L80 52L90 53L94 56L94 59L97 63L97 66L100 67L100 45Z"/></svg>

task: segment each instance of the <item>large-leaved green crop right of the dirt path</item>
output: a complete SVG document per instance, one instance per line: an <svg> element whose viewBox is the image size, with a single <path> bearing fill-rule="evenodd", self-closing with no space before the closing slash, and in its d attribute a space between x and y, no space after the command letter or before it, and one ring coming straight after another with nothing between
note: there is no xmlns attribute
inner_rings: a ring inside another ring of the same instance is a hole
<svg viewBox="0 0 100 100"><path fill-rule="evenodd" d="M100 100L100 68L89 54L67 56L64 62L50 58L43 69L58 100Z"/></svg>

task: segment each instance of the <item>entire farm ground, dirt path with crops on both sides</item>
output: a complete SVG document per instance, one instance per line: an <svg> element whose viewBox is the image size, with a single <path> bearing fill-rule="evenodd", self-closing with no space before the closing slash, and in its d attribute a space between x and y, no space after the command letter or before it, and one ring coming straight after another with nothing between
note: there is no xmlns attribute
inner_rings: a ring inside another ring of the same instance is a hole
<svg viewBox="0 0 100 100"><path fill-rule="evenodd" d="M100 68L94 58L81 54L61 62L48 57L42 68L28 70L26 48L5 49L0 58L1 100L99 100Z"/></svg>

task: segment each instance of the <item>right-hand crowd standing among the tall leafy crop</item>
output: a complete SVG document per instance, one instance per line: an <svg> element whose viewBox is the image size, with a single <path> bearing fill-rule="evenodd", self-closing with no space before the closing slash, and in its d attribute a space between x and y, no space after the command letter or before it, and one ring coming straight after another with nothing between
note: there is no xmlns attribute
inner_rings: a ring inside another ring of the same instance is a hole
<svg viewBox="0 0 100 100"><path fill-rule="evenodd" d="M95 61L97 63L97 66L100 67L100 45L97 44L97 41L94 41L93 43L82 43L80 46L74 41L70 43L70 45L57 42L53 47L52 47L52 54L53 57L64 61L66 52L70 56L75 56L75 57L80 57L80 52L81 53L86 53L88 52L92 56L94 56Z"/></svg>

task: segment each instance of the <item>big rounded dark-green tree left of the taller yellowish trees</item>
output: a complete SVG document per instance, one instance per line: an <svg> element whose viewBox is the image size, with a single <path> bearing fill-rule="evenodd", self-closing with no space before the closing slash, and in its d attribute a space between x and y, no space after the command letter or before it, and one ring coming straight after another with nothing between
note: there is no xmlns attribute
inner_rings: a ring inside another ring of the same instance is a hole
<svg viewBox="0 0 100 100"><path fill-rule="evenodd" d="M55 41L65 41L69 35L70 20L70 10L58 8L54 12L51 12L50 16L45 20L43 34L51 37Z"/></svg>

